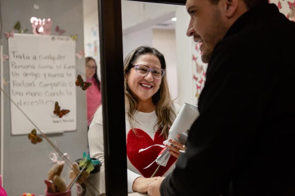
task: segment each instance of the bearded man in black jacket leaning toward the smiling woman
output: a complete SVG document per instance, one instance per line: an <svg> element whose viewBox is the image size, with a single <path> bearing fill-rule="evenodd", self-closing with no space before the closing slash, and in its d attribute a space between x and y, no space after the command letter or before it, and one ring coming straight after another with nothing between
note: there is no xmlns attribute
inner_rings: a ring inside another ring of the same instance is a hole
<svg viewBox="0 0 295 196"><path fill-rule="evenodd" d="M152 196L295 195L295 23L268 0L187 0L209 63L187 150Z"/></svg>

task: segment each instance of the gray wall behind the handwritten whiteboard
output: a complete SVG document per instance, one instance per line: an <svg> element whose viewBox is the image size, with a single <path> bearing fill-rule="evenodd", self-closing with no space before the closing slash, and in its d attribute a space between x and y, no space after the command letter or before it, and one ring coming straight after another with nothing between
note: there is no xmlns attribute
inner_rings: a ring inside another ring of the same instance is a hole
<svg viewBox="0 0 295 196"><path fill-rule="evenodd" d="M39 6L34 9L33 5ZM32 34L30 18L51 18L52 35L57 35L55 26L65 29L64 35L78 34L76 52L83 49L83 5L81 0L1 0L2 23L4 31L12 31L19 20ZM8 41L3 37L3 52L8 54ZM85 74L84 60L76 59L77 74ZM4 62L4 77L9 80L8 61ZM9 85L4 87L9 94ZM86 92L76 89L77 94L77 130L63 134L49 135L62 152L70 154L71 161L82 158L87 152ZM10 122L10 102L4 97L4 188L9 196L18 196L24 192L45 195L44 180L53 165L48 157L53 148L44 140L33 145L27 135L12 136ZM63 177L68 178L70 169L65 166ZM69 183L69 180L67 180ZM75 191L72 189L72 194Z"/></svg>

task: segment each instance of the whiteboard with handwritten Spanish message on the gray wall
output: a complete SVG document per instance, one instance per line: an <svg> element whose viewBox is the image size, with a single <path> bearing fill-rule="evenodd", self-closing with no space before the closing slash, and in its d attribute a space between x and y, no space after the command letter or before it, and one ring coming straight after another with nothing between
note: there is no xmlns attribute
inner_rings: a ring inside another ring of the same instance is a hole
<svg viewBox="0 0 295 196"><path fill-rule="evenodd" d="M10 97L45 133L76 130L76 42L68 36L14 34L8 39ZM55 102L70 112L53 114ZM11 105L13 135L35 127Z"/></svg>

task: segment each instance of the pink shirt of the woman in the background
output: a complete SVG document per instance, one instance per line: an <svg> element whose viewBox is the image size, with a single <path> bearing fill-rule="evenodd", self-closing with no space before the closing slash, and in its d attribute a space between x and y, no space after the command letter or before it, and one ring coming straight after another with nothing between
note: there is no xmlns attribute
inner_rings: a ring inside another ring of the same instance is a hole
<svg viewBox="0 0 295 196"><path fill-rule="evenodd" d="M86 90L87 96L87 126L89 127L93 115L97 108L101 105L101 92L98 90L95 79L87 79L87 82L91 82L92 85Z"/></svg>

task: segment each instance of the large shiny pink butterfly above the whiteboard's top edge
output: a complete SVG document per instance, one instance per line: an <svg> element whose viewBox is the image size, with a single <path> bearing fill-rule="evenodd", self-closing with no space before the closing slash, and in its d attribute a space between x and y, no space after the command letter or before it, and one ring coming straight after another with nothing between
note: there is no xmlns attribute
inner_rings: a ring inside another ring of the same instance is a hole
<svg viewBox="0 0 295 196"><path fill-rule="evenodd" d="M38 19L36 17L32 17L30 19L32 23L32 31L35 35L50 35L51 34L51 26L52 20L48 19Z"/></svg>

